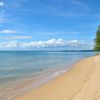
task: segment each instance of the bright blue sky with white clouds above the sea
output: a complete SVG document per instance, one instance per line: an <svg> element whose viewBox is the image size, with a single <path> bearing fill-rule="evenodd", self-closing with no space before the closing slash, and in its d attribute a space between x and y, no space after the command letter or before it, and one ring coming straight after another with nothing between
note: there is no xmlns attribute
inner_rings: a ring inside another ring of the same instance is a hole
<svg viewBox="0 0 100 100"><path fill-rule="evenodd" d="M100 0L0 0L0 50L92 49Z"/></svg>

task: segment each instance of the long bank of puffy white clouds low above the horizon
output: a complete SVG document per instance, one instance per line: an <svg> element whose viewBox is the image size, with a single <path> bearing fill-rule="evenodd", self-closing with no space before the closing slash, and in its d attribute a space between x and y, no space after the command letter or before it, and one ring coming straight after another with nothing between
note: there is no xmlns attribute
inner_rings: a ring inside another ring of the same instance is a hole
<svg viewBox="0 0 100 100"><path fill-rule="evenodd" d="M31 41L31 42L17 42L17 41L11 41L11 42L1 42L0 48L23 48L23 49L32 49L32 48L55 48L55 47L86 47L89 44L85 41L79 41L79 40L70 40L65 41L63 39L50 39L47 41Z"/></svg>

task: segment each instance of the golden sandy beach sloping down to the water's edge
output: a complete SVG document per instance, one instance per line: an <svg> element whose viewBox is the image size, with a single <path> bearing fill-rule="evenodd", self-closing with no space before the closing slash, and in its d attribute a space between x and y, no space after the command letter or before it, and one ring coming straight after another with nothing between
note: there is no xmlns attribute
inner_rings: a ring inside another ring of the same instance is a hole
<svg viewBox="0 0 100 100"><path fill-rule="evenodd" d="M79 61L62 76L13 100L100 100L100 55Z"/></svg>

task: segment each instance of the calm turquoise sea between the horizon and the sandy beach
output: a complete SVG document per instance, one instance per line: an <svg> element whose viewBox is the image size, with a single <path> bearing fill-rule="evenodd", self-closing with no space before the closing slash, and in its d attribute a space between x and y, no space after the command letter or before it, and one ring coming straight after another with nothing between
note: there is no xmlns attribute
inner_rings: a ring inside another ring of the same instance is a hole
<svg viewBox="0 0 100 100"><path fill-rule="evenodd" d="M64 72L64 69L70 68L76 61L95 54L94 52L1 51L0 100L8 100L12 93L19 90L21 84L41 78L43 75Z"/></svg>

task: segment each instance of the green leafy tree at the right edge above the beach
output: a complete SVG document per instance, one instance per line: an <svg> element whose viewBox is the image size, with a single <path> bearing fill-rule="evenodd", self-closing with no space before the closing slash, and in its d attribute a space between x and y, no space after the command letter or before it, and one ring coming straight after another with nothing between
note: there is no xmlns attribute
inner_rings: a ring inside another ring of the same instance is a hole
<svg viewBox="0 0 100 100"><path fill-rule="evenodd" d="M100 51L100 26L98 27L96 32L94 51Z"/></svg>

